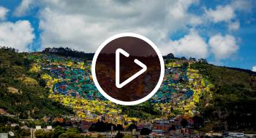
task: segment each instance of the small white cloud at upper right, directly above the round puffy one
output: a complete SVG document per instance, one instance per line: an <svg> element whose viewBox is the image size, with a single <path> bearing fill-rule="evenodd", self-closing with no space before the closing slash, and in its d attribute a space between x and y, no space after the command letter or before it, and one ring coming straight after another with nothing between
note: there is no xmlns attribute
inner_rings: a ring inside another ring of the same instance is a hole
<svg viewBox="0 0 256 138"><path fill-rule="evenodd" d="M230 5L225 7L217 6L216 9L206 10L206 17L212 20L214 23L228 22L235 17L235 11Z"/></svg>

